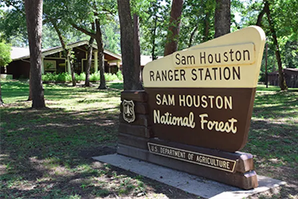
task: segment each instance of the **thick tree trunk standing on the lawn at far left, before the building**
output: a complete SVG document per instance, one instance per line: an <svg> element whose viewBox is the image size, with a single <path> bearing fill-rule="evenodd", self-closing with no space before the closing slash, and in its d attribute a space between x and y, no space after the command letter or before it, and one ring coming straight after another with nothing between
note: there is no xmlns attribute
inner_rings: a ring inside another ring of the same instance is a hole
<svg viewBox="0 0 298 199"><path fill-rule="evenodd" d="M25 0L26 23L30 50L32 108L45 107L41 80L42 0Z"/></svg>

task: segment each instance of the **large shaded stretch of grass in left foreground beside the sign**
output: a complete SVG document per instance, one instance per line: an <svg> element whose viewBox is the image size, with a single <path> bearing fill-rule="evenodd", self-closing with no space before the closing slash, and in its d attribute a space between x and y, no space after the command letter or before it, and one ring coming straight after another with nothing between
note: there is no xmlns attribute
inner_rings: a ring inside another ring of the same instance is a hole
<svg viewBox="0 0 298 199"><path fill-rule="evenodd" d="M118 109L7 107L0 114L0 198L114 198L146 192L196 198L91 159L116 152Z"/></svg>

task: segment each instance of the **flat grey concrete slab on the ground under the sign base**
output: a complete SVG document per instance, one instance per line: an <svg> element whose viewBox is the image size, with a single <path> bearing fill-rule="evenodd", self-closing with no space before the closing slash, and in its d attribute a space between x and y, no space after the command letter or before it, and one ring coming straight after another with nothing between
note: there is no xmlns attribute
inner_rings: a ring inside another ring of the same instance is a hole
<svg viewBox="0 0 298 199"><path fill-rule="evenodd" d="M98 156L93 157L93 159L128 170L203 198L243 199L286 184L279 180L257 176L259 187L245 191L118 154ZM160 176L162 176L162 178L160 178Z"/></svg>

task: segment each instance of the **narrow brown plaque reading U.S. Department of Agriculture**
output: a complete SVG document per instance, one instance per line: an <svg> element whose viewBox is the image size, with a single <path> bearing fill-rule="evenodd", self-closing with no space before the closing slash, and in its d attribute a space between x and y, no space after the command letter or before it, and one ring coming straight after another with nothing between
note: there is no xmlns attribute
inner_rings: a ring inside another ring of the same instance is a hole
<svg viewBox="0 0 298 199"><path fill-rule="evenodd" d="M236 161L148 142L149 152L204 167L233 173Z"/></svg>

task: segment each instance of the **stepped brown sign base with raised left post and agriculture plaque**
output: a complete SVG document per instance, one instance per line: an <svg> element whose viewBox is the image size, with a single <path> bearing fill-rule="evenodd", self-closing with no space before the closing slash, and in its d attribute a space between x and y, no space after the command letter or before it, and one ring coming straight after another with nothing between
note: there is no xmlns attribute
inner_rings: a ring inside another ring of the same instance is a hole
<svg viewBox="0 0 298 199"><path fill-rule="evenodd" d="M145 91L123 91L121 100L133 101L135 120L126 122L121 106L118 154L244 190L258 186L251 154L223 152L158 139L151 130Z"/></svg>

